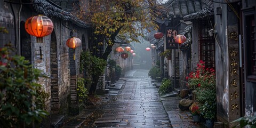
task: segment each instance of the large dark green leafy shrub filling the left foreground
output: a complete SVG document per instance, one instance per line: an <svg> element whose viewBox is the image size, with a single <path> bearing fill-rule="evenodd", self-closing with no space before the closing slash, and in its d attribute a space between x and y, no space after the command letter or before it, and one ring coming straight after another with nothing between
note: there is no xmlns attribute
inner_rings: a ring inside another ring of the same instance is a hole
<svg viewBox="0 0 256 128"><path fill-rule="evenodd" d="M0 124L20 127L39 123L48 114L43 109L49 94L37 81L46 76L25 57L12 55L11 50L11 44L0 48Z"/></svg>

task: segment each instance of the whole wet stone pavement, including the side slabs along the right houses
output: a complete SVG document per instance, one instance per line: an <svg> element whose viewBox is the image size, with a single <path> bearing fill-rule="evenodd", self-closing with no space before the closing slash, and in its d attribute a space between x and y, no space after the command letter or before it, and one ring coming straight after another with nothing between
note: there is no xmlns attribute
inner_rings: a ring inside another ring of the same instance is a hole
<svg viewBox="0 0 256 128"><path fill-rule="evenodd" d="M181 98L159 97L148 70L130 70L119 79L122 82L119 89L109 90L111 101L63 127L202 127L192 121L189 111L179 110Z"/></svg>

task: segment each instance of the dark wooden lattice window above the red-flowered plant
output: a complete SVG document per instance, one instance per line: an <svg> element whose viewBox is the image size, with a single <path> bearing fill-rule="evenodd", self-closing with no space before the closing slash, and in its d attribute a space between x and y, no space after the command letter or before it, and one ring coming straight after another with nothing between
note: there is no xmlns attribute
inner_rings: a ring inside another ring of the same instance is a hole
<svg viewBox="0 0 256 128"><path fill-rule="evenodd" d="M215 41L208 33L212 28L211 22L214 22L213 19L201 20L198 27L199 59L205 62L207 68L215 68Z"/></svg>

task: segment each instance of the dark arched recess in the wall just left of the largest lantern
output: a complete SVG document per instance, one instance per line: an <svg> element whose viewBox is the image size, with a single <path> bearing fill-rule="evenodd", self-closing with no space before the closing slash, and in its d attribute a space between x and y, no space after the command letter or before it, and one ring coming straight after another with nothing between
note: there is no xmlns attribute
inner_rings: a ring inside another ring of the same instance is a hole
<svg viewBox="0 0 256 128"><path fill-rule="evenodd" d="M20 54L31 64L31 38L25 30L25 22L20 22Z"/></svg>

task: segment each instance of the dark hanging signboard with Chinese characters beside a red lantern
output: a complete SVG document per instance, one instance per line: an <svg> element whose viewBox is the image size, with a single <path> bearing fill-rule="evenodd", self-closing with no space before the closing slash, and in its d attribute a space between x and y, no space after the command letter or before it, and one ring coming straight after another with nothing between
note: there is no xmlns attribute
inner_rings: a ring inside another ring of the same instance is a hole
<svg viewBox="0 0 256 128"><path fill-rule="evenodd" d="M178 35L178 28L175 27L167 27L165 32L165 45L166 49L179 49L179 44L175 43L174 37Z"/></svg>

